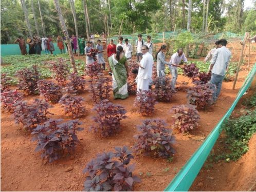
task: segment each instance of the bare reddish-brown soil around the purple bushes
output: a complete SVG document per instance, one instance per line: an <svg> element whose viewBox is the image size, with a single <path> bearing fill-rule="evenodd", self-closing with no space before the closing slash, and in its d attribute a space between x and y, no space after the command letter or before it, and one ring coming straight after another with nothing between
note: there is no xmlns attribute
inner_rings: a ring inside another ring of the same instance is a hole
<svg viewBox="0 0 256 192"><path fill-rule="evenodd" d="M172 161L163 158L153 158L145 156L135 156L132 163L136 164L134 174L141 178L141 183L135 184L134 190L163 190L174 178L179 169L191 157L193 152L204 141L209 132L223 117L229 109L236 93L242 86L246 77L246 71L241 71L236 84L236 89L232 90L233 82L223 82L220 98L213 106L206 110L199 110L200 121L197 129L191 133L181 134L178 130L173 131L176 138L174 149L176 153ZM185 76L179 75L177 82L190 82ZM86 89L88 90L88 83ZM12 87L14 89L15 87ZM83 131L78 132L80 143L75 152L69 157L53 163L41 159L39 152L34 152L35 142L31 142L31 136L22 130L21 125L14 123L13 117L2 108L1 113L1 188L2 190L17 191L80 191L86 175L82 173L86 164L98 153L104 151L114 151L115 146L128 146L130 149L135 143L134 135L138 133L137 125L145 119L160 118L167 122L167 128L171 129L173 118L170 109L174 105L186 104L187 93L178 91L170 103L159 102L155 105L155 112L150 117L142 117L137 109L132 105L135 96L130 95L125 100L114 100L113 95L109 101L119 104L127 111L127 119L121 121L121 131L109 138L101 138L100 135L88 131L93 124L95 112L92 95L88 91L79 94L85 99L86 114L80 118ZM25 100L32 102L39 95L27 96ZM42 98L43 99L43 98ZM54 104L49 111L54 113L48 116L54 119L70 120L64 114L60 104Z"/></svg>

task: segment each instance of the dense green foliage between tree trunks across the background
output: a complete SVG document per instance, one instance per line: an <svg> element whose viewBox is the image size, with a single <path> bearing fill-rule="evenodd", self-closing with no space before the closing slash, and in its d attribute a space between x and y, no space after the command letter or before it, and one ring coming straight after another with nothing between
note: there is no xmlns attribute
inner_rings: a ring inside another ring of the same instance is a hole
<svg viewBox="0 0 256 192"><path fill-rule="evenodd" d="M89 32L111 35L133 32L162 32L187 29L188 0L87 0ZM235 33L256 32L256 1L244 10L244 0L211 0L208 9L208 27L203 30L204 2L193 0L191 31L216 33L229 31ZM34 14L32 6L34 7ZM38 23L40 36L43 36L41 13L46 35L62 34L59 18L53 0L26 0L31 30L36 33ZM73 15L68 0L60 0L69 35L75 34ZM79 35L86 36L84 5L75 1ZM206 8L205 8L206 12ZM35 17L35 20L34 20ZM107 30L108 28L108 30ZM28 35L24 10L19 0L1 0L1 44L13 43L17 36Z"/></svg>

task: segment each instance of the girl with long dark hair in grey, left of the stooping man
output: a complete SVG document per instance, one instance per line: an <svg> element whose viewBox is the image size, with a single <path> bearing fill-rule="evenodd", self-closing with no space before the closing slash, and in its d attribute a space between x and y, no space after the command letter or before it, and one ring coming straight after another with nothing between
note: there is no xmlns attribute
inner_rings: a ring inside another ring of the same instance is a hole
<svg viewBox="0 0 256 192"><path fill-rule="evenodd" d="M167 46L162 45L156 53L156 71L157 71L158 77L166 76L166 74L164 73L164 69L165 69L164 65L171 66L171 63L166 62L166 57L164 56L166 49L167 49Z"/></svg>

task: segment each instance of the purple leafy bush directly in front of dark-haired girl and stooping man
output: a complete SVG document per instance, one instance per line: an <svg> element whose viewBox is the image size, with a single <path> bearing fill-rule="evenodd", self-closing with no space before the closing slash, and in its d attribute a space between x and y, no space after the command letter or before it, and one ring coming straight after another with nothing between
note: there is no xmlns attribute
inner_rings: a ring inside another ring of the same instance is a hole
<svg viewBox="0 0 256 192"><path fill-rule="evenodd" d="M155 79L155 90L157 101L170 102L173 91L170 83L170 78L161 76Z"/></svg>

